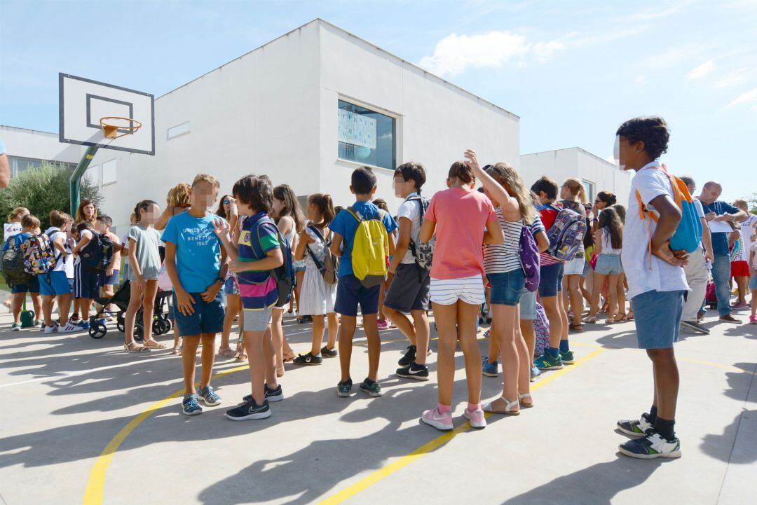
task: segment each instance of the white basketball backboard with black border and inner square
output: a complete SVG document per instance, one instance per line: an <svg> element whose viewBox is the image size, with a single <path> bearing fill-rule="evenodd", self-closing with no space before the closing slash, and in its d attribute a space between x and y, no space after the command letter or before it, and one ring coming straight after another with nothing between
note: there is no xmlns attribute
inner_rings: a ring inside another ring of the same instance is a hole
<svg viewBox="0 0 757 505"><path fill-rule="evenodd" d="M61 142L155 154L153 95L66 73L58 74L58 86ZM101 119L107 117L116 124L142 126L134 132L117 129L116 138L106 138Z"/></svg>

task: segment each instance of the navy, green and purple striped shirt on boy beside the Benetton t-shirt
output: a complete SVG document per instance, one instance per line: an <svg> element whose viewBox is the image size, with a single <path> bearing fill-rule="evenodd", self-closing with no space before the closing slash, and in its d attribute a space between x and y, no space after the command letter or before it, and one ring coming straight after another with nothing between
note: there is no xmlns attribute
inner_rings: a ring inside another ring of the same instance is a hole
<svg viewBox="0 0 757 505"><path fill-rule="evenodd" d="M260 219L266 222L258 222ZM239 231L237 242L240 262L257 262L265 259L268 252L279 248L279 230L272 221L267 220L265 212L258 212L245 219ZM246 271L237 274L239 296L245 311L259 311L273 307L279 299L276 279L271 271Z"/></svg>

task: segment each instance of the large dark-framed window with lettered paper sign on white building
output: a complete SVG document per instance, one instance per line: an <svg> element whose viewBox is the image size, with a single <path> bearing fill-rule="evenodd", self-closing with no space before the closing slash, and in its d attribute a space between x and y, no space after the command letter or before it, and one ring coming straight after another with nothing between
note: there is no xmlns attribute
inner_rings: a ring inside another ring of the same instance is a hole
<svg viewBox="0 0 757 505"><path fill-rule="evenodd" d="M396 119L339 101L339 159L394 170Z"/></svg>

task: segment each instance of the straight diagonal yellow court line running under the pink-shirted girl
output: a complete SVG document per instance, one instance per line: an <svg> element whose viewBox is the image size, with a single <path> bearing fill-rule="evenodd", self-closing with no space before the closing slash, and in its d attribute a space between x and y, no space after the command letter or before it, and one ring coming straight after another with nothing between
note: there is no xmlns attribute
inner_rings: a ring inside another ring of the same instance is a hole
<svg viewBox="0 0 757 505"><path fill-rule="evenodd" d="M597 355L605 352L605 350L606 349L597 349L596 351L590 352L589 354L585 355L583 358L578 359L575 364L566 365L565 367L562 367L561 370L550 372L546 377L544 377L544 379L538 380L536 383L534 383L534 385L531 386L531 391L536 391L537 389L547 386L547 384L551 383L553 380L556 380L558 377L565 375L565 373L569 373L571 370L575 370L576 367L581 366L581 364L586 363L590 359L596 358ZM495 414L485 414L486 417L490 417L492 415ZM379 482L382 479L386 479L394 472L397 472L398 470L403 469L405 466L410 465L410 463L413 463L420 457L425 456L425 454L435 451L435 449L440 448L442 445L446 444L448 441L452 440L460 433L467 432L470 429L472 428L469 423L461 424L455 429L452 429L449 432L445 432L444 435L440 435L427 444L420 446L415 451L407 454L407 456L400 457L400 459L394 461L394 463L391 463L382 469L372 472L369 476L363 477L363 479L360 479L360 481L355 482L353 485L350 485L347 488L344 488L337 494L332 494L332 496L326 498L326 500L319 501L318 505L338 505L338 503L343 503L344 500L348 500L361 491L365 491L376 482Z"/></svg>

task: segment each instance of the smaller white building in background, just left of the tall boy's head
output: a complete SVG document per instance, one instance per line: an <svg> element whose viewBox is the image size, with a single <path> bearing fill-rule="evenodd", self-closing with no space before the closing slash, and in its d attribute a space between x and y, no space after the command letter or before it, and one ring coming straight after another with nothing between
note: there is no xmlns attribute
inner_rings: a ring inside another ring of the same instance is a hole
<svg viewBox="0 0 757 505"><path fill-rule="evenodd" d="M618 203L628 205L631 174L581 147L522 154L520 170L529 186L542 175L553 178L557 184L577 177L584 183L591 202L598 192L610 191L618 197Z"/></svg>

